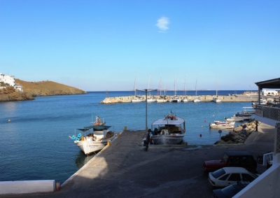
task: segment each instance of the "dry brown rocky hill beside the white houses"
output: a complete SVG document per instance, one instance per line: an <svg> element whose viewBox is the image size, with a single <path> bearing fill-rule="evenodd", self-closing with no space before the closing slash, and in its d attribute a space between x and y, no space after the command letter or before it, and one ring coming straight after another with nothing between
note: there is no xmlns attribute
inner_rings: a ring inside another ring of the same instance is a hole
<svg viewBox="0 0 280 198"><path fill-rule="evenodd" d="M15 79L16 84L22 85L23 92L16 91L13 87L0 89L1 101L23 101L32 100L38 96L54 96L68 94L86 94L87 92L75 87L55 83L52 81L27 82Z"/></svg>

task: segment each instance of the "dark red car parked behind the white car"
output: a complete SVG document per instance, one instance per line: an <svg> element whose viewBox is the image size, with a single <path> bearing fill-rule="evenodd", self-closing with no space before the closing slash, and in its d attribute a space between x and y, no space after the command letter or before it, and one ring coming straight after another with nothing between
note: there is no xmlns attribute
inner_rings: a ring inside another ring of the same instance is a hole
<svg viewBox="0 0 280 198"><path fill-rule="evenodd" d="M244 167L252 173L257 172L257 162L248 151L226 151L221 160L204 161L203 172L211 172L223 167Z"/></svg>

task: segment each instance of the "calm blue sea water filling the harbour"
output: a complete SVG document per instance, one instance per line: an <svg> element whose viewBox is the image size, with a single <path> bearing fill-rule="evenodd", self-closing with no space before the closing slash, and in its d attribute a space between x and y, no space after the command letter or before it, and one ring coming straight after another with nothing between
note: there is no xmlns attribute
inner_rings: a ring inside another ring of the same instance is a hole
<svg viewBox="0 0 280 198"><path fill-rule="evenodd" d="M221 90L219 95L245 90ZM137 94L145 94L139 92ZM150 94L150 93L149 93ZM160 94L159 92L151 92ZM161 93L163 94L163 93ZM174 92L166 92L174 95ZM178 95L185 92L178 91ZM195 95L188 91L187 95ZM36 97L32 101L0 103L0 181L55 180L64 183L94 155L84 155L69 138L76 129L92 125L99 115L114 132L146 127L146 103L100 104L105 97L132 96L132 91L87 92L87 94ZM216 95L214 90L197 95ZM188 145L209 145L232 129L209 129L209 122L225 120L251 102L186 102L147 104L147 125L172 111L186 120ZM241 122L236 122L236 126Z"/></svg>

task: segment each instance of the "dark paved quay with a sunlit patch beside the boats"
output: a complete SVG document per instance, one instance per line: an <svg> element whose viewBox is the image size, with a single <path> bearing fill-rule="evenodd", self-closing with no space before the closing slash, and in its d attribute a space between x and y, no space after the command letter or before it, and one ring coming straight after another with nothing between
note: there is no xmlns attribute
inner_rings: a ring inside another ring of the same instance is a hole
<svg viewBox="0 0 280 198"><path fill-rule="evenodd" d="M144 131L124 131L118 139L66 181L60 191L0 197L211 197L204 160L220 159L225 150L254 156L274 148L274 127L261 124L245 144L223 146L141 147ZM266 167L258 164L258 173Z"/></svg>

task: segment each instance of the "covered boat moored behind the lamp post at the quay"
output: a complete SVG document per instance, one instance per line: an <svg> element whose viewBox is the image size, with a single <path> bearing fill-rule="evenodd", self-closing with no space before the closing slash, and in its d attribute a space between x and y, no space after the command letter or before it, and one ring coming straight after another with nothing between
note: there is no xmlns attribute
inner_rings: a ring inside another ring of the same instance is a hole
<svg viewBox="0 0 280 198"><path fill-rule="evenodd" d="M167 116L155 120L150 130L150 143L155 145L176 145L183 142L186 133L185 120L170 111Z"/></svg>

